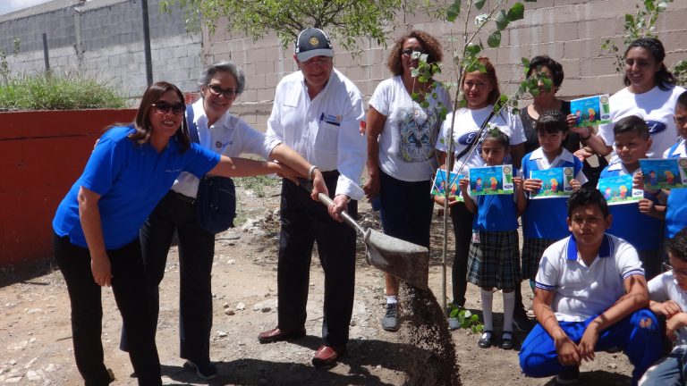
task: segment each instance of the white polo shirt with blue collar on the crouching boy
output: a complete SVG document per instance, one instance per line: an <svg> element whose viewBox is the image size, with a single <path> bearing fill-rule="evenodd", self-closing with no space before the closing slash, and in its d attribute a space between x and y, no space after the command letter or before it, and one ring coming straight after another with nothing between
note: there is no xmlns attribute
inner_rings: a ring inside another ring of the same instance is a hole
<svg viewBox="0 0 687 386"><path fill-rule="evenodd" d="M623 239L606 234L591 265L582 261L573 236L556 241L541 257L536 286L555 291L551 305L560 322L582 322L604 313L623 296L623 281L644 275L637 251Z"/></svg>

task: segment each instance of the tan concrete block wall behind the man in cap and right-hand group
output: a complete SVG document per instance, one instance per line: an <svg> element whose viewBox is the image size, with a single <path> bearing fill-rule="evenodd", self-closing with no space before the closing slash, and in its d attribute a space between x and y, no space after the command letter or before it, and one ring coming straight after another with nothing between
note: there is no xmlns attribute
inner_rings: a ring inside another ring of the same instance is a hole
<svg viewBox="0 0 687 386"><path fill-rule="evenodd" d="M506 4L513 4L513 0ZM525 4L525 19L516 21L502 32L502 46L488 49L483 55L495 64L501 88L506 92L507 80L522 80L522 57L549 55L564 66L565 80L559 96L571 99L599 93L613 94L623 88L622 75L615 72L615 59L602 53L601 45L612 39L623 49L623 21L625 13L636 13L640 0L539 0ZM476 16L474 13L472 16ZM402 21L401 21L402 20ZM666 65L670 67L687 59L687 1L669 4L657 22L657 35L666 47ZM445 46L444 80L454 79L451 52L452 39L458 38L460 23L430 20L416 13L399 18L393 38L407 28L423 29L439 38ZM472 25L472 20L469 21ZM471 27L472 28L472 27ZM490 30L491 27L488 29ZM453 38L452 38L453 34ZM486 43L487 34L481 37ZM227 59L246 71L247 89L234 104L233 111L248 122L265 130L276 83L284 75L295 71L293 44L281 46L274 36L252 41L228 33L222 26L214 35L204 32L204 63ZM335 43L335 66L350 77L366 96L371 96L379 81L390 76L384 63L388 48L377 46L368 39L360 39L362 53L353 57ZM456 47L457 48L457 47ZM452 94L455 90L452 90Z"/></svg>

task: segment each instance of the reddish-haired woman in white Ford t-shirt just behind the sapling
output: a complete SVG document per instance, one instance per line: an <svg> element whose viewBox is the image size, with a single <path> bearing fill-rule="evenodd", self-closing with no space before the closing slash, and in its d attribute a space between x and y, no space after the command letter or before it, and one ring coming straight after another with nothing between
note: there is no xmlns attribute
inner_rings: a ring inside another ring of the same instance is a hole
<svg viewBox="0 0 687 386"><path fill-rule="evenodd" d="M467 101L467 108L455 112L454 124L454 172L462 169L462 174L471 167L484 166L479 148L470 152L472 142L477 139L479 127L489 120L491 127L496 127L508 136L511 144L511 160L509 163L520 168L525 149L525 132L522 129L520 117L506 111L491 114L494 104L501 92L498 89L496 70L488 58L479 58L479 63L486 68L485 72L466 72L462 76L461 88ZM446 152L448 150L448 130L451 128L453 113L446 116L444 124L437 138L439 163L445 168ZM464 165L464 168L463 168ZM444 205L444 197L435 197L437 204ZM465 208L462 201L452 201L451 220L454 223L455 256L452 269L453 303L455 306L465 306L465 290L467 288L467 264L470 240L472 235L473 214Z"/></svg>

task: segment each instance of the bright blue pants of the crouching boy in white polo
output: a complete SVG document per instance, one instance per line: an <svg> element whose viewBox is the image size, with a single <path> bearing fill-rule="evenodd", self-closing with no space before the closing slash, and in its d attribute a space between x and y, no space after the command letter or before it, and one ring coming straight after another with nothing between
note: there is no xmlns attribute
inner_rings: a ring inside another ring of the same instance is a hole
<svg viewBox="0 0 687 386"><path fill-rule="evenodd" d="M597 316L590 316L584 322L559 324L573 342L580 343L585 329ZM640 326L640 321L644 319L651 319L649 327ZM634 365L632 384L636 385L641 374L661 357L663 340L656 316L648 309L640 309L602 331L594 350L606 351L611 348L621 348L630 359ZM564 370L564 365L558 362L554 340L539 323L522 342L520 367L522 373L535 378L553 376Z"/></svg>

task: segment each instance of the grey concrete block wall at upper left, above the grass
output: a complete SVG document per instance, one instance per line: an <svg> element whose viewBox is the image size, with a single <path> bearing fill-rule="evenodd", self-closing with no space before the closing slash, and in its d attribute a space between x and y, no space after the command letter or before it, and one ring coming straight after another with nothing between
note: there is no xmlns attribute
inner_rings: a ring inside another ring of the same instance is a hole
<svg viewBox="0 0 687 386"><path fill-rule="evenodd" d="M187 33L181 11L158 13L148 2L153 80L167 80L194 91L202 71L201 35ZM0 49L10 70L44 71L42 33L47 33L53 71L84 71L107 80L125 96L147 87L140 2L133 0L55 0L0 17ZM13 57L13 39L21 39Z"/></svg>

